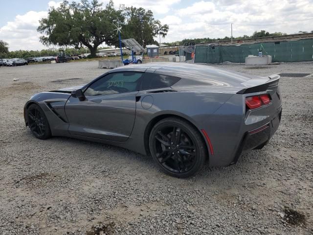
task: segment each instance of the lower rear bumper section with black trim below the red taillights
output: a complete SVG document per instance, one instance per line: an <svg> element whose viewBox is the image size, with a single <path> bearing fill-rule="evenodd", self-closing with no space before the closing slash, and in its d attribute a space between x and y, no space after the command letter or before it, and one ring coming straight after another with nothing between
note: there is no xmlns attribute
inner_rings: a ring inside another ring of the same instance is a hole
<svg viewBox="0 0 313 235"><path fill-rule="evenodd" d="M251 149L261 149L268 143L274 135L280 124L282 108L278 109L277 114L267 124L258 127L257 129L248 131L244 134L242 141L237 149L234 160L231 164L236 164L240 155Z"/></svg>

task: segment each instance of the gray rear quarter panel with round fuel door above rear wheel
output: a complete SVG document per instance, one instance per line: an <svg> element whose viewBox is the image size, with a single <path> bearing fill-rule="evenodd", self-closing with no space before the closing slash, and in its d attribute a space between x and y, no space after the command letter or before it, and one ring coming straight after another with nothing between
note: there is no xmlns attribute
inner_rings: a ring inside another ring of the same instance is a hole
<svg viewBox="0 0 313 235"><path fill-rule="evenodd" d="M131 148L135 148L135 151L143 154L146 154L145 129L152 119L160 115L179 116L193 123L201 132L201 129L207 129L213 113L233 95L192 92L154 93L149 94L153 96L153 105L149 109L144 109L141 106L141 100L148 94L147 92L138 94L141 98L136 102L134 130L126 143L127 146L129 145Z"/></svg>

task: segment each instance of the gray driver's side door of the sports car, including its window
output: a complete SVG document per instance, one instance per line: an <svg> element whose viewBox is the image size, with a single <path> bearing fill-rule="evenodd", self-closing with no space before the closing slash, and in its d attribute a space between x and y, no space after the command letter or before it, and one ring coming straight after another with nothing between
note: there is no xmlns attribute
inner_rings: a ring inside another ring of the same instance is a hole
<svg viewBox="0 0 313 235"><path fill-rule="evenodd" d="M86 99L71 96L65 112L71 135L126 141L132 133L141 72L109 73L85 90Z"/></svg>

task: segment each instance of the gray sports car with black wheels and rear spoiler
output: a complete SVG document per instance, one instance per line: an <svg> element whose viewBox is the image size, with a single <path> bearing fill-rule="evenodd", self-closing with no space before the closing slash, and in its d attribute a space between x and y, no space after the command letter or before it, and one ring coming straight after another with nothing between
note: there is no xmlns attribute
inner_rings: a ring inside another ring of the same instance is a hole
<svg viewBox="0 0 313 235"><path fill-rule="evenodd" d="M24 118L39 139L66 136L151 154L175 177L235 164L277 130L279 76L186 63L113 69L84 86L34 94Z"/></svg>

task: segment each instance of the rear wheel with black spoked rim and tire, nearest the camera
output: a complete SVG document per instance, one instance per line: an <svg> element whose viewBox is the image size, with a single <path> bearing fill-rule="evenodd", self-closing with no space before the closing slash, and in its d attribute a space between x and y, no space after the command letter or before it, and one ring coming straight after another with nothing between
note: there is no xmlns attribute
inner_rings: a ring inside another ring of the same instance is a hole
<svg viewBox="0 0 313 235"><path fill-rule="evenodd" d="M178 178L198 172L208 155L200 132L188 121L174 117L156 123L150 132L149 148L156 164Z"/></svg>

